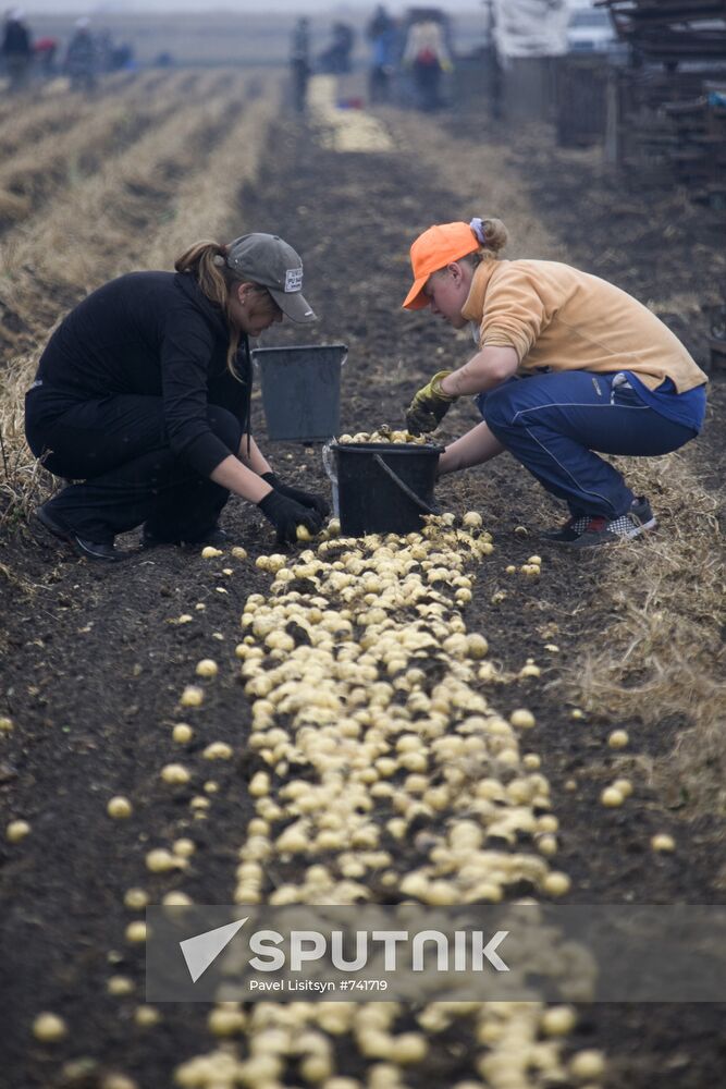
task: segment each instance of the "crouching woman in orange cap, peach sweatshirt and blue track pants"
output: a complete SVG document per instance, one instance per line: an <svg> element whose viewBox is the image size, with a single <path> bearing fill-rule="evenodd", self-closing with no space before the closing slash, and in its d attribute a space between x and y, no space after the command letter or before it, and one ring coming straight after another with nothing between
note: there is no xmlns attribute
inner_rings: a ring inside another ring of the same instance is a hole
<svg viewBox="0 0 726 1089"><path fill-rule="evenodd" d="M408 427L432 431L473 394L483 423L446 448L441 473L508 450L569 506L545 537L574 547L637 537L655 525L650 504L595 451L655 456L696 438L706 376L631 295L557 261L501 260L506 241L500 220L473 219L413 244L403 305L429 306L455 329L471 322L479 352L419 390Z"/></svg>

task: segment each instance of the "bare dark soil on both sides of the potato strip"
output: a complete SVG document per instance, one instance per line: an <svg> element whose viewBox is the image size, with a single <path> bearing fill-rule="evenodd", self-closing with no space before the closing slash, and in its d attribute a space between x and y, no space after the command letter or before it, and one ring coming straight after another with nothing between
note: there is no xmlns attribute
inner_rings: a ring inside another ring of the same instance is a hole
<svg viewBox="0 0 726 1089"><path fill-rule="evenodd" d="M613 230L607 183L586 157L565 179L558 154L544 137L538 155L534 199L546 208L551 229L562 233L574 262L585 266ZM241 195L245 229L280 233L305 256L306 295L320 316L311 339L349 345L344 429L395 424L420 379L456 358L463 362L468 351L462 344L453 351L451 331L428 316L399 310L408 285L403 258L413 235L458 215L451 194L415 167L411 151L323 151L299 125L283 123L273 135L261 184ZM577 213L583 191L588 207L600 208L588 215L587 227ZM602 194L600 204L593 194ZM663 257L662 231L657 222L651 227L630 253L624 283L640 296L648 294ZM677 259L687 278L689 255L672 245L668 261ZM616 279L612 270L602 274ZM281 329L266 343L297 340L294 329ZM691 346L701 363L704 344L694 331ZM723 380L714 386L723 419ZM256 414L266 449L259 402ZM473 423L471 408L457 406L447 417L448 433L459 432L467 420ZM698 445L700 464L723 465L715 417ZM325 486L319 448L278 444L268 451L282 476ZM707 480L718 482L715 469ZM599 637L589 628L588 612L602 560L564 555L537 539L542 518L558 512L508 458L495 462L485 479L469 474L444 481L439 498L460 513L481 510L494 537L495 551L478 572L466 612L469 629L485 634L492 658L506 670L518 671L528 657L543 669L536 688L527 681L502 686L492 701L504 712L524 705L537 714L532 748L542 757L561 819L557 865L573 879L569 902L723 902L717 881L723 824L715 817L685 824L636 772L635 795L624 809L608 811L598 804L603 783L612 778L614 758L603 743L615 723L595 715L573 721L557 681L581 647ZM32 528L0 546L5 659L0 714L15 722L13 733L1 738L0 802L3 823L23 817L33 829L22 844L3 841L0 846L2 929L10 939L0 957L2 1085L60 1086L63 1062L93 1056L102 1068L123 1069L139 1086L157 1089L171 1084L179 1062L209 1050L204 1007L170 1005L159 1028L135 1025L144 958L124 941L132 916L122 901L126 889L139 884L152 903L182 883L198 903L224 904L232 894L236 853L251 812L241 787L253 767L246 748L248 706L233 651L246 597L269 586L254 560L276 549L267 524L242 502L230 503L224 523L247 548L248 560L205 561L160 549L134 552L108 570L70 555ZM525 526L528 536L515 534L517 526ZM544 561L539 583L504 573L507 564L520 564L532 552ZM227 566L232 575L223 573ZM495 607L491 597L497 589L506 589L507 597ZM182 613L190 613L193 622L173 623ZM217 633L223 638L216 639ZM556 656L544 650L549 643L559 647ZM182 714L179 695L202 657L220 661L220 676L208 686L204 709ZM196 729L188 749L180 749L180 758L195 769L195 785L171 790L160 783L159 769L174 759L170 730L182 718L194 720ZM674 720L657 730L638 726L638 750L649 756L668 751L682 725ZM218 739L234 747L235 759L201 767L195 754ZM205 778L219 790L209 795L209 819L194 820L188 803ZM568 780L576 781L575 790L565 787ZM106 816L113 794L132 799L130 820L113 822ZM673 831L684 849L654 855L649 848L654 831ZM197 853L183 882L148 874L146 852L184 834L195 840ZM106 981L114 974L136 980L136 996L108 995ZM65 1017L70 1036L64 1042L51 1048L33 1040L30 1024L41 1010ZM725 1011L714 1005L582 1007L574 1042L605 1049L610 1089L713 1089L723 1080L726 1061ZM342 1054L341 1073L356 1073L345 1063ZM453 1038L442 1041L426 1073L411 1074L408 1081L445 1089L473 1074ZM84 1082L99 1084L96 1075Z"/></svg>

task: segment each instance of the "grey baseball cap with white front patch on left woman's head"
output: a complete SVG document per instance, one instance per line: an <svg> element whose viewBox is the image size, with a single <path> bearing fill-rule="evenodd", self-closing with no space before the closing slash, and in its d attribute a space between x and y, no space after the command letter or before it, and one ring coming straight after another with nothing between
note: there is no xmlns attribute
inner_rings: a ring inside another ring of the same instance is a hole
<svg viewBox="0 0 726 1089"><path fill-rule="evenodd" d="M276 234L243 234L235 238L227 246L226 264L238 276L267 287L282 313L293 321L316 320L303 295L299 254Z"/></svg>

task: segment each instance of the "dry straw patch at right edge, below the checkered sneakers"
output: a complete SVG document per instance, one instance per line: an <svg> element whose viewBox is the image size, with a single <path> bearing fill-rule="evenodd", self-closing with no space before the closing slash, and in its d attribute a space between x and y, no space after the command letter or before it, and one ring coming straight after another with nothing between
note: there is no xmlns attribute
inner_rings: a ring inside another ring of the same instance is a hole
<svg viewBox="0 0 726 1089"><path fill-rule="evenodd" d="M586 648L570 695L603 715L654 726L679 720L685 729L668 758L656 761L655 782L673 806L726 813L726 571L717 500L678 454L630 464L628 478L653 498L661 528L608 558L591 617L606 638Z"/></svg>

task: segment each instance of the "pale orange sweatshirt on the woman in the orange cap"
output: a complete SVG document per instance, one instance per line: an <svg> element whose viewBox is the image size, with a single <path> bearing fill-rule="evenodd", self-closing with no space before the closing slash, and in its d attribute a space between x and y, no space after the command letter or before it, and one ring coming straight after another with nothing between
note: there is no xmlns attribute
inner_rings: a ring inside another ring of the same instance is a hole
<svg viewBox="0 0 726 1089"><path fill-rule="evenodd" d="M519 371L631 370L654 390L678 393L707 377L678 338L632 295L558 261L483 261L462 314L479 344L515 348Z"/></svg>

